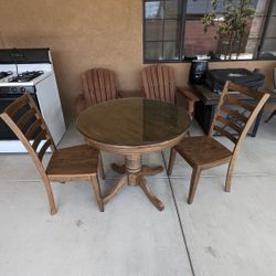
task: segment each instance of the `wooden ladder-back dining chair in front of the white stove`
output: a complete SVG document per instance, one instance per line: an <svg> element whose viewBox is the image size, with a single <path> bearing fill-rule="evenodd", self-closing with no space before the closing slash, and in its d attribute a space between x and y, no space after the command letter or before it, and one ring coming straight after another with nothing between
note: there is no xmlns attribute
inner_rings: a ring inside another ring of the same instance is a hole
<svg viewBox="0 0 276 276"><path fill-rule="evenodd" d="M47 126L29 94L24 94L13 102L0 116L32 157L44 182L51 214L56 213L56 208L50 181L62 183L72 180L92 181L99 210L104 211L97 179L99 155L97 149L88 145L56 149ZM49 147L52 148L53 153L45 169L42 161Z"/></svg>

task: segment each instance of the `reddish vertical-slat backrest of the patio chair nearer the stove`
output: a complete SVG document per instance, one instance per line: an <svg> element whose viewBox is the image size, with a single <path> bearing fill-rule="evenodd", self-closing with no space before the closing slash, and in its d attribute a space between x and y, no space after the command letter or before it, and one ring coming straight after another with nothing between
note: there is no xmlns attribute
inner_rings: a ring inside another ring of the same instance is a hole
<svg viewBox="0 0 276 276"><path fill-rule="evenodd" d="M82 74L83 94L88 105L116 98L115 73L106 68L93 68Z"/></svg>

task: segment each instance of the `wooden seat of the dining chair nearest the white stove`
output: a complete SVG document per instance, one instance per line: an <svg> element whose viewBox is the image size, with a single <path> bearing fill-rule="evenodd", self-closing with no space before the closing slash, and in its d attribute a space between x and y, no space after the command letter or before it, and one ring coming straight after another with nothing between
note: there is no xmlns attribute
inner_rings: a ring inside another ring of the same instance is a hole
<svg viewBox="0 0 276 276"><path fill-rule="evenodd" d="M52 181L88 179L97 173L98 153L88 145L57 149L47 164L46 174Z"/></svg>

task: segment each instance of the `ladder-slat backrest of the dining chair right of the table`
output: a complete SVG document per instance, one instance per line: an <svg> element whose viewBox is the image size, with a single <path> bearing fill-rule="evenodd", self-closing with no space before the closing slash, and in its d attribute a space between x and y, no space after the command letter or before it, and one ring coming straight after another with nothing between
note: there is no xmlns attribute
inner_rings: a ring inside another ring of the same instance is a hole
<svg viewBox="0 0 276 276"><path fill-rule="evenodd" d="M269 94L226 82L209 136L220 134L226 137L235 145L235 151L268 97ZM246 103L243 102L245 98Z"/></svg>

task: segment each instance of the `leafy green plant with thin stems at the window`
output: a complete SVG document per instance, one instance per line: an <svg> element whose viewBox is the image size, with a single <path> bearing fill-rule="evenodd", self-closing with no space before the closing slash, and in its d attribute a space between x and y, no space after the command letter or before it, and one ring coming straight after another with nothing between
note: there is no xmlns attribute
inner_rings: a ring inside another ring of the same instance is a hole
<svg viewBox="0 0 276 276"><path fill-rule="evenodd" d="M248 19L255 13L251 6L251 0L240 0L238 3L233 3L232 0L226 0L225 13L223 20L220 21L217 17L217 0L211 0L213 10L202 18L204 32L208 32L209 28L216 28L217 38L226 38L227 45L224 50L225 59L231 60L233 47L237 44L236 59L240 55L241 46L245 34L248 33Z"/></svg>

